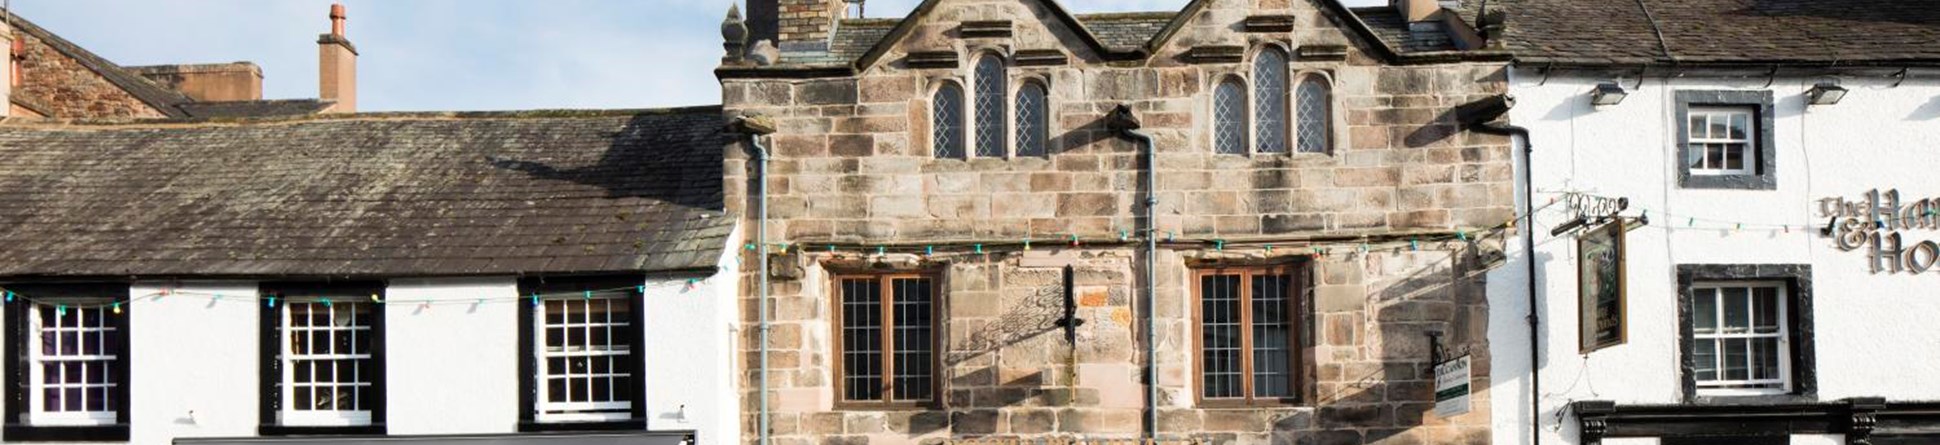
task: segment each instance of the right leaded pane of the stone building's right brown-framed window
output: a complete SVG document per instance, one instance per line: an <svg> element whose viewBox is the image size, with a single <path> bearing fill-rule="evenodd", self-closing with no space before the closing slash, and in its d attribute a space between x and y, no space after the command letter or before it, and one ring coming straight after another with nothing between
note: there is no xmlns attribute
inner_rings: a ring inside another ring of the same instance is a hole
<svg viewBox="0 0 1940 445"><path fill-rule="evenodd" d="M1253 396L1292 396L1292 276L1253 276Z"/></svg>

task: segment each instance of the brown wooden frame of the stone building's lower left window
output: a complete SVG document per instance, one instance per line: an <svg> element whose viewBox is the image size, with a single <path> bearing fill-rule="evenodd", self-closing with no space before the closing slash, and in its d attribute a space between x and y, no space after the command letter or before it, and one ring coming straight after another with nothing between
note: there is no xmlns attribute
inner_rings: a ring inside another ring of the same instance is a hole
<svg viewBox="0 0 1940 445"><path fill-rule="evenodd" d="M931 363L929 363L929 398L925 398L925 400L894 400L894 394L896 394L894 393L894 385L896 385L896 381L894 381L894 377L896 377L894 375L896 373L896 338L894 338L892 330L896 328L896 319L894 319L896 305L894 305L894 291L892 291L894 286L892 286L892 282L894 280L908 280L908 278L929 280L929 361ZM881 311L883 311L883 325L877 326L877 328L881 328L881 338L883 338L883 348L879 350L881 356L883 356L883 371L877 375L883 381L881 398L879 400L848 400L848 369L844 369L846 363L848 363L848 359L844 358L848 354L848 350L846 350L846 346L844 346L846 342L842 338L842 334L846 330L844 328L846 321L842 319L842 297L844 297L842 295L842 291L844 291L842 290L842 282L844 280L875 280L877 286L881 286L881 290L883 290L883 295L881 295L881 301L879 301ZM832 319L832 325L830 325L830 332L832 332L830 334L830 350L834 352L830 356L832 356L832 361L834 361L832 365L834 365L836 408L840 408L840 410L929 410L929 408L939 408L939 400L943 400L943 396L941 396L943 394L943 338L947 336L947 332L943 330L943 323L941 323L943 321L943 280L941 280L941 276L937 276L937 274L925 274L925 272L894 272L894 274L850 272L850 274L832 274L830 280L828 280L828 290L830 290L828 291L828 295L830 295L830 299L828 299L828 305L830 305L828 315Z"/></svg>

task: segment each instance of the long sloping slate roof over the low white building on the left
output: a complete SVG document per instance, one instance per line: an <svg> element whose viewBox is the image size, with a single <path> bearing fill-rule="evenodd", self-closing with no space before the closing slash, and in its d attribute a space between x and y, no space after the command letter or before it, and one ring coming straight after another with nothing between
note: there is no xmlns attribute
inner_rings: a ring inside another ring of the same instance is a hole
<svg viewBox="0 0 1940 445"><path fill-rule="evenodd" d="M0 276L712 270L720 107L0 124Z"/></svg>

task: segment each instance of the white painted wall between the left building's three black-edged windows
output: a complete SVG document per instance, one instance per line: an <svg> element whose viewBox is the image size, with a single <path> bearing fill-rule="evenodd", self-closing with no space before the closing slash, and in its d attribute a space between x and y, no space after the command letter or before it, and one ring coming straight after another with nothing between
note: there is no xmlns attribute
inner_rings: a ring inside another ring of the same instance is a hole
<svg viewBox="0 0 1940 445"><path fill-rule="evenodd" d="M733 257L724 255L724 260ZM733 276L660 274L644 284L648 429L695 429L704 443L739 443L741 408L731 387L729 350ZM178 295L155 299L165 288ZM130 443L256 435L262 338L256 293L254 282L130 288L138 297L126 315L134 385ZM516 431L518 379L524 379L518 375L524 301L518 280L390 280L386 299L392 301L384 305L390 433Z"/></svg>

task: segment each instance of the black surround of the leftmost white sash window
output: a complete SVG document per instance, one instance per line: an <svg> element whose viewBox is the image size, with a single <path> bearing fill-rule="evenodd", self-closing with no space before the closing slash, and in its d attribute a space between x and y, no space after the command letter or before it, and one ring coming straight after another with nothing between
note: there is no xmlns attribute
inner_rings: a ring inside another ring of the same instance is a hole
<svg viewBox="0 0 1940 445"><path fill-rule="evenodd" d="M17 295L25 295L39 301L58 303L62 299L114 299L122 301L128 297L128 284L12 284L8 290ZM128 315L134 305L122 305L122 313L109 317L109 325L114 326L111 338L114 338L114 377L118 379L114 389L111 389L114 424L111 426L29 426L23 422L27 410L27 367L21 358L27 352L27 315L23 311L29 307L25 299L14 299L8 303L6 311L6 375L16 385L6 385L6 428L0 428L0 441L128 441L128 387L134 379L128 379Z"/></svg>

